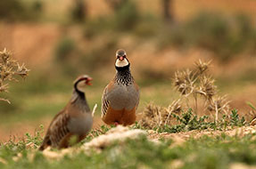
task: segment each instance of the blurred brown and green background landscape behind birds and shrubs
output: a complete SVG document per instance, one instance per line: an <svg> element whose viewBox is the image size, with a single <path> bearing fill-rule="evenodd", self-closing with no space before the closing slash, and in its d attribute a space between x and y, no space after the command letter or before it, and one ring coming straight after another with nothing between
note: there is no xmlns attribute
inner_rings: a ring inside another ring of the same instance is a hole
<svg viewBox="0 0 256 169"><path fill-rule="evenodd" d="M153 101L178 97L172 78L196 60L211 60L211 74L231 108L256 104L255 0L1 0L0 50L31 71L1 93L0 141L47 127L70 100L73 80L94 77L87 101L98 103L115 74L115 52L128 53L141 89L138 112Z"/></svg>

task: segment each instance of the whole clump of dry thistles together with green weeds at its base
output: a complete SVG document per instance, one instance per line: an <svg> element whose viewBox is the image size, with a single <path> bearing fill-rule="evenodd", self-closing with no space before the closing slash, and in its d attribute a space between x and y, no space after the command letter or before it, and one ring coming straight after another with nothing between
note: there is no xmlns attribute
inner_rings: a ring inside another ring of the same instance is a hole
<svg viewBox="0 0 256 169"><path fill-rule="evenodd" d="M230 111L227 96L219 96L215 80L209 74L210 63L199 60L192 70L178 70L174 76L174 88L180 93L178 100L168 108L149 103L137 126L158 132L178 133L225 130L228 126L246 125L244 117L239 117L236 109ZM202 116L198 115L199 103L203 103Z"/></svg>

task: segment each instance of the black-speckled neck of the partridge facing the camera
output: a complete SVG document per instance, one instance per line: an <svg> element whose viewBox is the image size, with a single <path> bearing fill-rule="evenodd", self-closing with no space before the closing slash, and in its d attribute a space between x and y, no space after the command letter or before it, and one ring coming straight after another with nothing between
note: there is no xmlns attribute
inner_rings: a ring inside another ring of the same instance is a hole
<svg viewBox="0 0 256 169"><path fill-rule="evenodd" d="M132 84L133 83L133 76L131 76L129 65L127 67L117 68L117 73L115 76L115 81L118 84Z"/></svg>

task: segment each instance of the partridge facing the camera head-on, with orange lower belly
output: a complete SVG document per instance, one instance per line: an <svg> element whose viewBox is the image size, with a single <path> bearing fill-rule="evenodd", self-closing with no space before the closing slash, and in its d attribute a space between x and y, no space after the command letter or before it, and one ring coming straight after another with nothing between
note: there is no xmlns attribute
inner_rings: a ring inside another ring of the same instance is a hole
<svg viewBox="0 0 256 169"><path fill-rule="evenodd" d="M115 68L116 75L103 92L102 119L107 125L132 125L136 121L139 89L124 50L116 52Z"/></svg>

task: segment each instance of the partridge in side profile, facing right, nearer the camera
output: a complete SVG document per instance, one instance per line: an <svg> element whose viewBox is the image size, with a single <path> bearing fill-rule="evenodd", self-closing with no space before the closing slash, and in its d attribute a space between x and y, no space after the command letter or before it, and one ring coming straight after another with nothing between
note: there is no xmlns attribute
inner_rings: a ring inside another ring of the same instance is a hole
<svg viewBox="0 0 256 169"><path fill-rule="evenodd" d="M78 76L74 82L74 90L67 106L59 112L51 122L45 139L39 150L48 146L53 148L67 148L70 146L70 138L76 137L76 142L83 140L93 125L92 112L87 104L82 87L90 85L90 76Z"/></svg>

